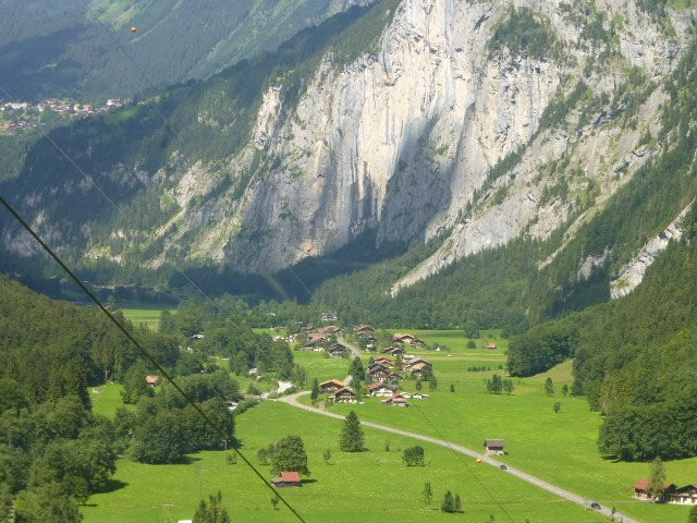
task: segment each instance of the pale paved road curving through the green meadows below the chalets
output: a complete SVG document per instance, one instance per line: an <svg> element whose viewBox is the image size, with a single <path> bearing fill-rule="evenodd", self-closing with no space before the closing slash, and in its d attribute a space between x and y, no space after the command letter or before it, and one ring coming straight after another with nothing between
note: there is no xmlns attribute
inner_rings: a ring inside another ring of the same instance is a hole
<svg viewBox="0 0 697 523"><path fill-rule="evenodd" d="M323 416L329 416L329 417L334 417L337 419L343 419L344 416L340 415L340 414L334 414L333 412L327 412L327 411L322 411L320 409L315 409L314 406L309 406L309 405L305 405L303 403L299 403L297 401L297 398L299 396L304 396L304 394L308 394L309 392L304 391L304 392L297 392L295 394L291 394L291 396L286 396L284 398L279 398L278 401L282 401L284 403L288 403L290 405L296 406L298 409L303 409L305 411L309 411L309 412L314 412L316 414L321 414ZM500 465L502 465L502 463L500 461L497 461L492 458L482 455L481 452L477 452L476 450L469 449L467 447L463 447L461 445L455 445L455 443L450 443L443 439L438 439L438 438L431 438L430 436L424 436L420 434L416 434L416 433L409 433L407 430L402 430L399 428L394 428L394 427L389 427L387 425L379 425L377 423L371 423L371 422L360 422L362 425L365 425L366 427L370 427L370 428L377 428L378 430L384 430L387 433L392 433L392 434L399 434L400 436L406 436L408 438L414 438L414 439L420 439L421 441L428 441L429 443L433 443L433 445L439 445L441 447L445 447L448 449L452 449L455 452L460 452L461 454L465 454L465 455L469 455L472 458L481 458L484 463L487 463L491 466L496 466L497 469L500 467ZM508 465L506 465L508 466ZM502 473L504 473L502 471ZM517 469L514 469L512 466L509 466L508 470L505 471L506 474L512 474L516 477L519 477L521 479L531 483L533 485L542 488L549 492L552 492L561 498L567 499L568 501L573 501L574 503L578 503L583 507L586 507L588 503L588 499L584 498L582 496L578 496L577 494L574 492L570 492L568 490L565 490L561 487L558 487L555 485L552 485L551 483L547 483L542 479L539 479L535 476L531 476L530 474L527 474L523 471L519 471ZM608 508L608 507L600 507L600 510L598 510L597 512L610 518L612 516L612 511ZM615 521L621 521L623 523L639 523L637 520L634 520L627 515L623 515L619 512L615 512L614 514Z"/></svg>

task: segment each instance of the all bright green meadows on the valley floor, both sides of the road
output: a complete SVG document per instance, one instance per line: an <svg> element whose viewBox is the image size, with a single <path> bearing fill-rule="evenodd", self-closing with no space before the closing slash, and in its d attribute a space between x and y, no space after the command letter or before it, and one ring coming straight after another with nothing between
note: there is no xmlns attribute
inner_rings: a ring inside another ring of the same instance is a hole
<svg viewBox="0 0 697 523"><path fill-rule="evenodd" d="M497 332L477 341L476 349L467 349L462 331L409 330L439 352L407 349L407 353L433 363L438 389L423 391L430 400L412 400L409 409L384 406L378 399L366 399L360 405L335 405L332 412L346 414L354 409L360 418L430 435L480 449L486 438L504 438L508 455L502 461L519 467L550 483L557 484L588 499L636 518L643 523L683 523L686 507L641 503L632 498L632 485L648 476L646 463L622 463L603 460L598 454L596 440L601 417L590 412L585 398L564 397L563 384L571 385L572 362L565 362L547 373L530 378L513 378L511 396L486 392L486 380L496 373L505 375L508 342ZM489 341L498 348L488 350ZM350 360L325 357L321 353L294 351L295 362L302 365L308 382L316 377L322 381L343 379ZM367 363L368 355L364 357ZM221 366L227 362L221 361ZM472 372L472 367L486 367ZM555 390L545 393L543 384L551 377ZM242 390L250 379L236 377ZM450 392L454 385L455 391ZM274 384L258 382L261 390ZM414 391L416 381L402 382L405 390ZM121 405L118 384L100 387L102 393L90 392L93 409L113 416ZM308 398L303 398L308 401ZM555 402L561 410L552 409ZM501 471L477 466L466 457L453 457L448 449L409 441L395 435L368 430L369 452L344 454L338 449L341 423L286 404L264 402L237 417L237 435L244 451L256 463L256 451L288 434L303 436L308 449L311 479L302 489L283 490L289 499L303 510L307 521L331 522L421 522L509 521L503 510L492 501L479 482L493 494L496 501L515 522L576 523L602 521L598 514L559 500L557 497L514 481ZM384 451L386 441L390 452ZM427 449L427 467L407 469L401 463L400 450L409 445ZM331 449L332 460L323 463L321 453ZM270 477L269 467L261 466ZM667 463L668 479L677 484L697 481L697 459ZM424 482L431 482L435 501L431 508L420 499ZM207 494L220 489L237 522L293 521L284 510L273 510L270 492L264 491L249 471L240 463L225 465L222 452L200 452L187 464L143 465L121 459L110 492L93 496L84 507L85 522L169 522L188 519L198 501L199 491ZM447 488L458 492L465 506L464 518L442 514L435 510ZM357 503L356 499L362 502ZM170 507L171 504L171 507Z"/></svg>

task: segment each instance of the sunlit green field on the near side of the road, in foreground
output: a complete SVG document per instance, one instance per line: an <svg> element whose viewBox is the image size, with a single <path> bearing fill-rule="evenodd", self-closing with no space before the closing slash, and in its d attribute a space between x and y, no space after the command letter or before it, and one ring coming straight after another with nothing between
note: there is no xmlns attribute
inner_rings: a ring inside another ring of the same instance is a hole
<svg viewBox="0 0 697 523"><path fill-rule="evenodd" d="M603 521L592 511L559 501L501 471L462 462L448 449L408 438L367 430L368 452L343 453L339 450L340 430L341 421L276 402L265 402L237 417L243 451L255 464L259 447L290 434L303 437L313 483L281 492L310 523L485 523L490 521L490 514L497 522L509 521L503 510L516 523L523 523L526 518L531 523ZM384 451L386 441L389 452ZM428 465L406 467L401 451L416 443L426 449ZM332 453L329 464L321 458L326 449ZM191 463L182 465L144 465L120 460L113 490L93 496L82 508L85 523L164 523L191 519L199 495L218 490L222 491L224 504L236 523L294 521L281 504L279 510L273 510L272 494L242 461L227 465L220 451L200 452L191 458ZM269 466L258 466L266 477L271 477ZM431 507L421 500L425 482L432 485ZM438 510L447 489L461 495L464 514L444 514Z"/></svg>

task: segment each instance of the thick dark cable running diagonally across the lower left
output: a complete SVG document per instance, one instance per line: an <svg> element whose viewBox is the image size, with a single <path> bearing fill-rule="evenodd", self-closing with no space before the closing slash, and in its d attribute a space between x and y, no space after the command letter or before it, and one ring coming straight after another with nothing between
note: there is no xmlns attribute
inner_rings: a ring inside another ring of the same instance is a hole
<svg viewBox="0 0 697 523"><path fill-rule="evenodd" d="M140 352L140 354L143 355L143 357L145 357L148 362L150 362L157 369L158 372L164 377L164 379L167 379L167 381L169 381L172 387L174 387L174 389L182 396L182 398L184 398L184 400L186 401L186 403L188 403L189 405L192 405L196 412L198 413L198 415L204 419L204 422L206 422L206 424L211 427L216 433L218 433L219 436L224 436L223 431L220 429L220 427L218 425L216 425L210 417L208 417L206 415L206 413L203 411L203 409L197 405L187 394L186 392L184 392L182 390L182 388L176 385L176 382L172 379L172 377L170 376L170 374L164 370L164 368L162 367L162 365L160 365L158 363L158 361L152 357L148 351L146 351L143 345L140 345L140 343L133 337L133 335L131 332L129 332L129 330L121 325L121 323L111 314L111 312L105 307L105 305L102 305L102 303L99 301L99 299L87 288L87 285L63 263L63 260L51 250L51 247L49 247L46 242L44 242L44 240L41 240L41 238L34 231L34 229L32 229L32 227L26 222L26 220L14 209L14 207L12 207L3 197L2 195L0 195L0 204L2 204L9 211L10 214L22 224L22 227L34 238L34 240L36 240L38 242L38 244L41 246L41 248L44 251L46 251L51 258L53 258L53 260L65 271L65 273L68 273L68 276L71 277L71 279L73 281L75 281L75 283L77 283L77 285L83 290L83 292L85 294L87 294L87 296L97 305L97 307L99 307L99 309L107 315L107 317L111 320L111 323L113 323L117 328L129 339L129 341L131 341L131 343L133 343L136 349L138 349L138 351ZM223 438L224 439L224 438ZM297 518L298 521L301 521L302 523L307 523L305 521L305 519L303 519L303 516L297 512L297 510L295 510L293 508L293 506L291 506L291 503L289 503L285 498L283 496L281 496L278 490L276 488L273 488L273 486L264 477L264 475L261 474L261 472L259 472L259 470L254 466L252 464L252 462L236 448L233 448L232 450L234 450L234 452L242 458L242 461L244 461L246 463L246 465L252 469L252 471L254 471L254 473L259 477L259 479L261 479L261 482L283 502L283 504L285 504L285 507L288 507L288 509Z"/></svg>

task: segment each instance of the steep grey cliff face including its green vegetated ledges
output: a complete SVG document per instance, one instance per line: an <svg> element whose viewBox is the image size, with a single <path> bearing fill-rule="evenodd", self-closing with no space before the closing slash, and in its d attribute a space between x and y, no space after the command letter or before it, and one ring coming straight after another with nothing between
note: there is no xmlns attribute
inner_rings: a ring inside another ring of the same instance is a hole
<svg viewBox="0 0 697 523"><path fill-rule="evenodd" d="M396 294L515 238L563 227L561 251L655 153L662 80L688 39L690 12L668 13L634 0L379 2L346 29L367 35L359 52L330 40L299 84L292 71L264 83L234 153L178 150L150 170L146 186L173 204L137 263L273 271L367 229L379 242L445 236ZM137 245L140 232L109 234ZM136 259L109 234L88 239L88 258Z"/></svg>

